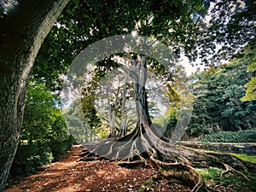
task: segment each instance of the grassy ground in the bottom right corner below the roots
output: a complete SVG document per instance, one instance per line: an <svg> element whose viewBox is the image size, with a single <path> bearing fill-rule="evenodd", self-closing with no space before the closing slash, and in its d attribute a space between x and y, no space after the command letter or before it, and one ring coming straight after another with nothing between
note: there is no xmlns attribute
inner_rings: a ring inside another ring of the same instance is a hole
<svg viewBox="0 0 256 192"><path fill-rule="evenodd" d="M219 168L204 168L196 169L197 172L205 179L207 186L214 188L219 186L219 189L226 189L227 191L237 191L237 192L254 192L256 186L256 173L244 173L249 177L249 181L241 175L227 173L221 177L221 173L224 172L224 169ZM221 185L221 187L220 187Z"/></svg>

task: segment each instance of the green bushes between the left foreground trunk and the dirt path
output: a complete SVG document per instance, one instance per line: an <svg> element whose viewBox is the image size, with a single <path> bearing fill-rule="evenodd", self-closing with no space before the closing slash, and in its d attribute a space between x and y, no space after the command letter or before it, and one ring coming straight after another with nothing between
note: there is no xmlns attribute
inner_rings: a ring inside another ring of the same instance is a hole
<svg viewBox="0 0 256 192"><path fill-rule="evenodd" d="M57 104L57 96L44 84L29 84L20 145L11 174L35 172L38 167L59 160L75 143Z"/></svg>

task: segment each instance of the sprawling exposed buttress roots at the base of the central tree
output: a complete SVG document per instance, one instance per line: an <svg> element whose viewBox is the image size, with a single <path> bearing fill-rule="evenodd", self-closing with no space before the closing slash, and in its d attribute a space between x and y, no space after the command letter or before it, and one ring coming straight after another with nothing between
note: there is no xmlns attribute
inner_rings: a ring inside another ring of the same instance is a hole
<svg viewBox="0 0 256 192"><path fill-rule="evenodd" d="M83 151L82 156L87 160L119 160L119 166L127 168L147 166L150 162L162 176L189 183L194 192L215 190L207 189L204 179L193 167L224 166L226 171L221 177L227 172L236 172L247 180L248 177L242 172L256 171L255 164L240 160L231 154L202 152L176 143L166 143L155 136L146 119L141 122L143 123L138 124L137 128L125 137L84 144L88 151Z"/></svg>

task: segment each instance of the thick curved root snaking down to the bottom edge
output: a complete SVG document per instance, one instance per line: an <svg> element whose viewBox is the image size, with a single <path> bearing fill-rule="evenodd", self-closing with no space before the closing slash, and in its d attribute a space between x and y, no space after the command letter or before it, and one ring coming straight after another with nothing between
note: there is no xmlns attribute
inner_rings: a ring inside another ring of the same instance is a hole
<svg viewBox="0 0 256 192"><path fill-rule="evenodd" d="M166 178L176 178L191 186L192 192L206 191L204 179L192 166L183 163L167 163L150 156L150 160L160 174Z"/></svg>

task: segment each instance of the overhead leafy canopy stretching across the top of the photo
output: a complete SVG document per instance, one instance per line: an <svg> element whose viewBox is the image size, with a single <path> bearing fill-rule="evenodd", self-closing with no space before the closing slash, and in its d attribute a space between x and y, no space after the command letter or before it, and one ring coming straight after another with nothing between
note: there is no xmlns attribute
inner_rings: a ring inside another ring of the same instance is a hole
<svg viewBox="0 0 256 192"><path fill-rule="evenodd" d="M254 46L253 6L251 1L72 0L44 40L33 74L60 90L59 77L81 50L102 38L133 31L159 39L195 64L219 65L244 44ZM109 63L101 61L98 66Z"/></svg>

